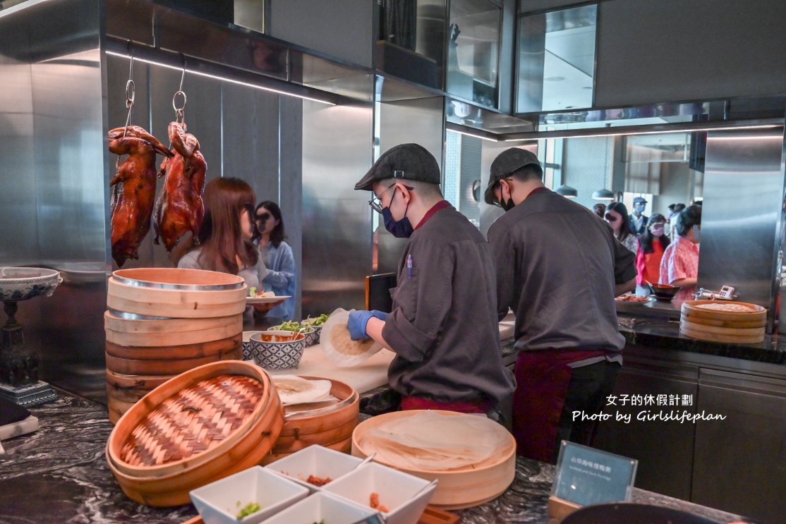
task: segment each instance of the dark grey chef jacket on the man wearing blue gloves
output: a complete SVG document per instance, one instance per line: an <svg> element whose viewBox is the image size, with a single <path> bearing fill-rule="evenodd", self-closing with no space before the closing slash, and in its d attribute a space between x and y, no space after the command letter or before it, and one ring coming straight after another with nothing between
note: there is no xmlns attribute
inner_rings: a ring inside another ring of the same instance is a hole
<svg viewBox="0 0 786 524"><path fill-rule="evenodd" d="M387 371L393 389L440 402L498 402L513 390L502 365L494 280L489 245L454 207L418 226L382 330L396 354Z"/></svg>

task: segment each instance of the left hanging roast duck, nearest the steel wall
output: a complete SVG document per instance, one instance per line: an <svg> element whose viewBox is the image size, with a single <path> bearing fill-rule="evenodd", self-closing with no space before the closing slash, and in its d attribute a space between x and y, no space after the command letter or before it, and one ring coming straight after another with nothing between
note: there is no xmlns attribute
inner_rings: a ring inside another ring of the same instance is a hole
<svg viewBox="0 0 786 524"><path fill-rule="evenodd" d="M109 181L112 202L112 258L123 267L128 258L139 258L141 240L150 230L156 200L156 153L171 157L167 147L139 126L109 131L109 151L127 155Z"/></svg>

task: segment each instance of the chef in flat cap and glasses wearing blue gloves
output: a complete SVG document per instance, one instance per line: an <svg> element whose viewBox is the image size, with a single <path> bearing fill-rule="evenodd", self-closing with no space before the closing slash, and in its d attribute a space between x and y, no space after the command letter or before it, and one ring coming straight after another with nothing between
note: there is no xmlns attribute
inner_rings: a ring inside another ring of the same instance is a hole
<svg viewBox="0 0 786 524"><path fill-rule="evenodd" d="M441 174L417 144L391 148L354 189L385 228L406 237L393 309L355 311L352 339L371 337L395 351L387 371L402 409L487 413L513 390L502 365L494 260L475 225L443 199Z"/></svg>

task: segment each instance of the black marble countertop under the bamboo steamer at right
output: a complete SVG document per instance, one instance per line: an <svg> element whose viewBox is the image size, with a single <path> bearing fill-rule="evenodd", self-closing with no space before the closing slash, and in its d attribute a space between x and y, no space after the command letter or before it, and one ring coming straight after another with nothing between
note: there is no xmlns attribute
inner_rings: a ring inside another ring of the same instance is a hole
<svg viewBox="0 0 786 524"><path fill-rule="evenodd" d="M617 321L619 332L625 336L627 343L634 346L786 365L786 339L781 339L778 335L765 335L763 342L755 344L722 343L682 335L679 322L667 318L636 317L618 313Z"/></svg>

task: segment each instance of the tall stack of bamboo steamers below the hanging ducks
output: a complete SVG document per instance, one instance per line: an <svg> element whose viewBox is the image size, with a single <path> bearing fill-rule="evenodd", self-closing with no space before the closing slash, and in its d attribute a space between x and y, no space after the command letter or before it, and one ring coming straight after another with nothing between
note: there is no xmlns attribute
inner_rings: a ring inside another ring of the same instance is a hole
<svg viewBox="0 0 786 524"><path fill-rule="evenodd" d="M199 269L115 271L104 315L109 420L173 376L241 359L247 287Z"/></svg>

